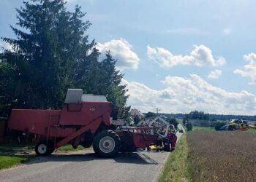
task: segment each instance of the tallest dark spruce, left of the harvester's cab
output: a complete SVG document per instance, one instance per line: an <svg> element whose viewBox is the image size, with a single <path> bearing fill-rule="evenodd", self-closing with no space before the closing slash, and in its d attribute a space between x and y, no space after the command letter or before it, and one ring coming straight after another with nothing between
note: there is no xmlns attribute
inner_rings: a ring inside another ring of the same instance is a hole
<svg viewBox="0 0 256 182"><path fill-rule="evenodd" d="M64 4L63 0L30 0L16 9L20 29L11 28L17 39L4 38L14 51L1 54L2 63L15 73L16 87L7 98L7 103L15 100L12 107L59 108L67 88L75 86L80 58L89 59L86 52L95 43L89 43L84 33L91 24L81 20L85 14L80 7L69 12ZM7 89L0 95L4 92Z"/></svg>

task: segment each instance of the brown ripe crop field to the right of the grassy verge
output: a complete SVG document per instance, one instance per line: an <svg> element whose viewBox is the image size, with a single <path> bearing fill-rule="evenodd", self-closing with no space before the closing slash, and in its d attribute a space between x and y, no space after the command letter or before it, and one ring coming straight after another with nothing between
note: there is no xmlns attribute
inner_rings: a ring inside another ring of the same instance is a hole
<svg viewBox="0 0 256 182"><path fill-rule="evenodd" d="M192 181L256 181L255 132L187 133Z"/></svg>

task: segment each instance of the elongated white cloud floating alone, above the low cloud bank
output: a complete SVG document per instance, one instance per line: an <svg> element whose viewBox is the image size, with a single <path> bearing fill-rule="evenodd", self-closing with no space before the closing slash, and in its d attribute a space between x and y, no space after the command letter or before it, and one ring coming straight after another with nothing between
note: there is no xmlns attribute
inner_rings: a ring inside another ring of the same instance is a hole
<svg viewBox="0 0 256 182"><path fill-rule="evenodd" d="M147 46L148 58L154 60L163 68L171 68L177 65L195 65L195 66L222 66L226 63L225 58L214 58L211 50L204 46L195 46L195 49L189 55L173 55L165 48L152 48Z"/></svg>

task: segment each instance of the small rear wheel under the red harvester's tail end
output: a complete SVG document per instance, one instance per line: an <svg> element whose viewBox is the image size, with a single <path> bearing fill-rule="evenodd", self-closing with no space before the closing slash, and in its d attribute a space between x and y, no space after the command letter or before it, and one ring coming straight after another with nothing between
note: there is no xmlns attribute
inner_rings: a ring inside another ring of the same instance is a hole
<svg viewBox="0 0 256 182"><path fill-rule="evenodd" d="M54 145L52 141L39 141L35 148L38 156L48 156L53 153Z"/></svg>

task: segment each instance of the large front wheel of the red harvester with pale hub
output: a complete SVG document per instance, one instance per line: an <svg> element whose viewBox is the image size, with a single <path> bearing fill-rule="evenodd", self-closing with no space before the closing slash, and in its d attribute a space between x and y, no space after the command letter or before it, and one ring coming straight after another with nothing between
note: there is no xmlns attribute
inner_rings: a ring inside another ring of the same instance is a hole
<svg viewBox="0 0 256 182"><path fill-rule="evenodd" d="M94 137L92 145L97 156L115 157L120 149L121 140L113 130L104 130Z"/></svg>

